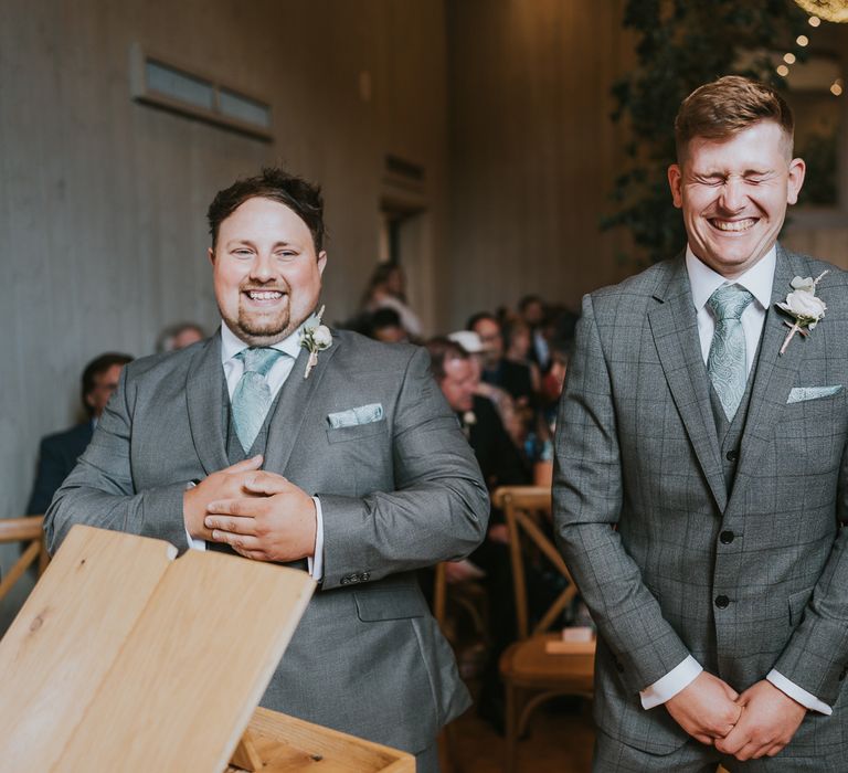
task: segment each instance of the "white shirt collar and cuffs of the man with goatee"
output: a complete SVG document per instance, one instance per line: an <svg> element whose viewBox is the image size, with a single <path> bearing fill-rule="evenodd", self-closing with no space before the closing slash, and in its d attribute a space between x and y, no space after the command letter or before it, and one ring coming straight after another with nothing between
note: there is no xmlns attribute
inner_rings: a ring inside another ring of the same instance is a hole
<svg viewBox="0 0 848 773"><path fill-rule="evenodd" d="M230 400L233 399L235 388L244 374L244 362L237 354L247 349L250 345L239 338L226 322L221 321L221 364L224 368L224 379L226 379L226 389L230 393ZM265 381L271 390L272 401L276 399L277 393L295 367L295 360L300 353L300 328L295 330L288 338L274 343L272 349L278 349L285 357L278 357L276 362L265 375ZM318 497L312 497L315 502L316 530L315 530L315 554L308 558L309 574L312 579L320 580L324 576L324 513L321 512L321 502ZM205 540L194 539L187 532L189 538L189 548L193 550L205 550Z"/></svg>

